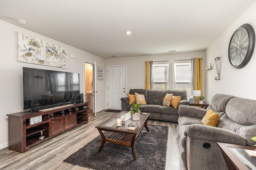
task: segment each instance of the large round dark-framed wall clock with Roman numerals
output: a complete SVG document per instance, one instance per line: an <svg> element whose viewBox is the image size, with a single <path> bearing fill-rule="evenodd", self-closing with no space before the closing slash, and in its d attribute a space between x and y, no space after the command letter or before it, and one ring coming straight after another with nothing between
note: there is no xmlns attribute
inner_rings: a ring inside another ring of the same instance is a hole
<svg viewBox="0 0 256 170"><path fill-rule="evenodd" d="M252 25L241 25L232 35L228 47L228 59L235 68L243 68L250 61L255 46Z"/></svg>

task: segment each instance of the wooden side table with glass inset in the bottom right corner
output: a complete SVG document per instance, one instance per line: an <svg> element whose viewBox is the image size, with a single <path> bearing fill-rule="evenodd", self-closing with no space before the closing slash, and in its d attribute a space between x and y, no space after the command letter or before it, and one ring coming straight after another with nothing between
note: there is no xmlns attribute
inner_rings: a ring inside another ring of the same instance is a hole
<svg viewBox="0 0 256 170"><path fill-rule="evenodd" d="M254 150L255 147L219 143L224 160L229 170L255 170L256 158L250 157L244 149Z"/></svg>

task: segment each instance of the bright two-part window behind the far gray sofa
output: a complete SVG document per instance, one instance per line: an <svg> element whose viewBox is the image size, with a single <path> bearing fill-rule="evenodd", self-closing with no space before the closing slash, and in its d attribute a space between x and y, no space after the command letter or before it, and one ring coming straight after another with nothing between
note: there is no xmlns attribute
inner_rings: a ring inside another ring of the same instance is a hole
<svg viewBox="0 0 256 170"><path fill-rule="evenodd" d="M152 65L153 89L168 90L168 61ZM186 90L191 95L191 60L174 61L176 90Z"/></svg>

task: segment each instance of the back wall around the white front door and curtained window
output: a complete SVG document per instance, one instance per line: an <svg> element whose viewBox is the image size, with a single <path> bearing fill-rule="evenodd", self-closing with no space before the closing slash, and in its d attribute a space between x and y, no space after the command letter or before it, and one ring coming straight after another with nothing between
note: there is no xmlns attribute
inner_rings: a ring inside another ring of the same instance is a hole
<svg viewBox="0 0 256 170"><path fill-rule="evenodd" d="M204 63L204 51L190 52L190 53L173 53L166 55L147 55L140 57L125 57L125 58L112 58L106 59L106 66L114 65L127 65L127 83L132 84L126 89L126 93L129 93L130 89L145 88L145 69L146 61L168 61L169 59L174 60L186 60L192 58L203 58ZM204 68L204 64L203 64ZM204 77L204 72L203 72Z"/></svg>

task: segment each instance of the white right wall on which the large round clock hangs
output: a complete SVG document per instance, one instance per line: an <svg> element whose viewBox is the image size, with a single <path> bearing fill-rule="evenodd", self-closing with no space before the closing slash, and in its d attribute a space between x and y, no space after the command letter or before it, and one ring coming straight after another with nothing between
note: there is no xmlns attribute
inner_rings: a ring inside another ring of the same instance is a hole
<svg viewBox="0 0 256 170"><path fill-rule="evenodd" d="M256 3L252 4L244 14L242 14L208 49L205 53L205 64L210 63L214 66L212 70L206 71L205 76L205 99L210 103L214 94L230 94L237 97L256 99L256 48L249 63L241 69L234 68L228 60L228 45L234 31L243 25L249 23L256 32ZM217 27L218 25L216 25ZM220 71L220 80L215 80L217 76L214 59L220 57L217 61Z"/></svg>

